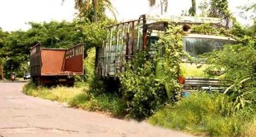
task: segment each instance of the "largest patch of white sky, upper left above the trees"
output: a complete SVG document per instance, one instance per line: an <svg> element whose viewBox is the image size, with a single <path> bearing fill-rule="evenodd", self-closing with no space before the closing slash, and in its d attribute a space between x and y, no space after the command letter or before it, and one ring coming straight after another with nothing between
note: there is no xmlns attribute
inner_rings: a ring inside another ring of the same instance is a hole
<svg viewBox="0 0 256 137"><path fill-rule="evenodd" d="M27 22L73 20L74 1L0 0L0 27L3 31L27 30Z"/></svg>

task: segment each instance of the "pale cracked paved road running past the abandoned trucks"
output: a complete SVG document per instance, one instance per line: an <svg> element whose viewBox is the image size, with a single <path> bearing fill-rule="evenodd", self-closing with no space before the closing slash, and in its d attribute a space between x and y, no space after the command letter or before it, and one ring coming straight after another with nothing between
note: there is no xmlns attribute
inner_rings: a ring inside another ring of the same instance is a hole
<svg viewBox="0 0 256 137"><path fill-rule="evenodd" d="M0 83L0 137L191 136L26 96L20 92L24 84Z"/></svg>

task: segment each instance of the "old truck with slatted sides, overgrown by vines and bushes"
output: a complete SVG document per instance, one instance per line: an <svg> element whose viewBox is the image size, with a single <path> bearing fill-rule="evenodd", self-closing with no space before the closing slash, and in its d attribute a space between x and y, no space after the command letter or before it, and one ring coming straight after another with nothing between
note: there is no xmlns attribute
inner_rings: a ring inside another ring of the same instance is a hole
<svg viewBox="0 0 256 137"><path fill-rule="evenodd" d="M163 56L165 49L151 47L159 40L160 31L166 31L168 23L183 26L181 29L186 33L183 37L183 50L190 56L197 58L200 54L211 52L214 49L222 49L224 44L235 43L230 37L219 37L212 35L201 35L190 33L191 25L210 24L213 27L223 27L218 18L207 17L176 17L170 16L168 21L160 18L152 18L146 15L140 16L138 20L122 22L106 29L108 35L103 45L96 51L96 74L100 77L116 78L119 71L125 71L125 62L130 61L139 51L146 50L150 56L158 53ZM154 31L156 33L154 33ZM159 60L156 65L155 77L160 79L164 75L165 60ZM220 90L218 77L224 71L214 71L216 75L208 75L204 62L191 62L183 60L180 64L182 74L177 81L182 85L184 93L190 90ZM156 80L157 80L156 79ZM166 88L166 94L171 91Z"/></svg>

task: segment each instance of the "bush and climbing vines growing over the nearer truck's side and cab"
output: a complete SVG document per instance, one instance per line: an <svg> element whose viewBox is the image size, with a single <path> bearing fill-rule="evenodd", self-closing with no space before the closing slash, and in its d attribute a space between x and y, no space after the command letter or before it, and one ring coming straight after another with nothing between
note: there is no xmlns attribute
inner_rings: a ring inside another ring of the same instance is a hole
<svg viewBox="0 0 256 137"><path fill-rule="evenodd" d="M183 51L182 38L185 34L181 28L182 26L179 25L169 25L166 33L160 36L158 43L152 45L165 50L163 59L157 56L154 60L148 60L147 54L137 54L136 58L126 65L125 72L120 75L123 98L127 102L132 117L148 117L159 108L157 104L165 102L165 100L156 100L159 98L157 94L161 93L159 91L163 92L162 88L164 87L160 87L160 85L165 86L172 102L180 100L181 88L177 77L181 59L187 55ZM213 28L209 24L192 26L192 32L233 37L224 28ZM160 83L157 83L154 76L155 62L160 60L164 60L164 75L161 77ZM143 101L148 102L149 105ZM157 106L152 106L151 103Z"/></svg>

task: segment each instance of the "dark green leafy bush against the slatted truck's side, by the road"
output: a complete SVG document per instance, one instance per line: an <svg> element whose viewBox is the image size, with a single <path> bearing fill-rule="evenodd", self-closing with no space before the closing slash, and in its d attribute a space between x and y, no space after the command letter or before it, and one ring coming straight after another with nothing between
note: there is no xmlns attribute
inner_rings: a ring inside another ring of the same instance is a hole
<svg viewBox="0 0 256 137"><path fill-rule="evenodd" d="M147 54L137 54L120 74L121 91L131 117L149 117L166 101L165 90L155 81L154 62L147 60Z"/></svg>

